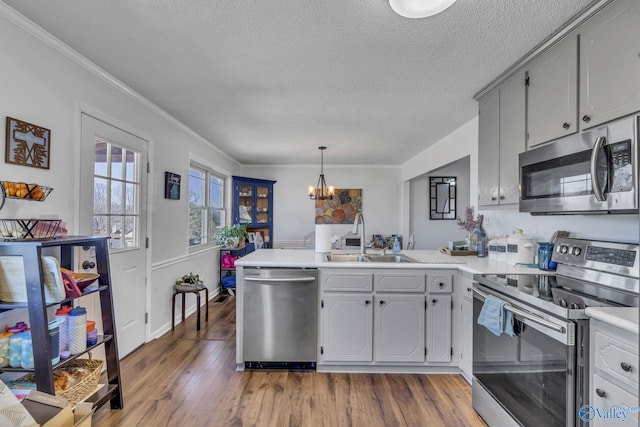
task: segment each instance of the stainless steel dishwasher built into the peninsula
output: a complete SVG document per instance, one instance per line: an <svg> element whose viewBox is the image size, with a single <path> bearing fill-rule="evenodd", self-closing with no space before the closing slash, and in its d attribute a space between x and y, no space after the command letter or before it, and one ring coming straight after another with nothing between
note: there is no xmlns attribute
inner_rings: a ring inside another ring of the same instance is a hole
<svg viewBox="0 0 640 427"><path fill-rule="evenodd" d="M318 271L244 269L243 347L247 368L315 368Z"/></svg>

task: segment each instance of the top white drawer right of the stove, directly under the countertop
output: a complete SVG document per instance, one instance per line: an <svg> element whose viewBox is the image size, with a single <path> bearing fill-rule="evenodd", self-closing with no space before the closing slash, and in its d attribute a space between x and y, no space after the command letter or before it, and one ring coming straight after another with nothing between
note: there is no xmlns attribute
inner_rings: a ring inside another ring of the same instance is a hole
<svg viewBox="0 0 640 427"><path fill-rule="evenodd" d="M638 386L638 352L616 337L596 330L595 367L612 379Z"/></svg>

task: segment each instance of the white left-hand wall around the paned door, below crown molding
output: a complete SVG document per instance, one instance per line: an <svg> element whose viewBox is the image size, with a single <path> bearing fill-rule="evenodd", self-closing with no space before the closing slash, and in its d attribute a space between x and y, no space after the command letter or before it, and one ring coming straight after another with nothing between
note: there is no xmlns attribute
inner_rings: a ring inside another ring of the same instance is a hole
<svg viewBox="0 0 640 427"><path fill-rule="evenodd" d="M157 335L170 325L170 296L176 275L189 271L217 286L217 251L201 255L197 265L187 247L187 197L163 198L164 172L188 179L189 159L221 172L235 173L238 165L207 141L166 113L115 81L107 73L71 51L59 41L0 2L0 117L5 116L51 129L49 170L0 162L0 179L26 181L53 187L45 202L7 200L0 218L56 216L78 230L80 111L89 108L102 117L136 129L150 140L151 265L149 268L149 334ZM3 137L4 138L4 137ZM4 146L4 145L3 145ZM186 189L186 187L183 187ZM163 268L170 264L171 270ZM195 304L189 301L190 310ZM2 324L0 315L0 324Z"/></svg>

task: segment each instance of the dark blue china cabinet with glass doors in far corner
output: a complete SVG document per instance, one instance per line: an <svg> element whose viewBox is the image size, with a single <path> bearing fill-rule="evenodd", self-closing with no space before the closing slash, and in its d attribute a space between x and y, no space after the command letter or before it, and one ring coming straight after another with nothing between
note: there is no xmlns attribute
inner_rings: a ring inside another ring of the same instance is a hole
<svg viewBox="0 0 640 427"><path fill-rule="evenodd" d="M273 184L266 179L233 177L233 224L247 224L247 232L261 233L264 247L273 247Z"/></svg>

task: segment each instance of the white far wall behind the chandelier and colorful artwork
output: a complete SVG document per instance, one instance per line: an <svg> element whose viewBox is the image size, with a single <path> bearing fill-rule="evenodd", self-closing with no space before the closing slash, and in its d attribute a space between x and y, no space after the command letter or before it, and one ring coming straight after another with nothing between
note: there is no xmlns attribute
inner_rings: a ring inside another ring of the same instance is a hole
<svg viewBox="0 0 640 427"><path fill-rule="evenodd" d="M315 202L307 187L318 181L318 166L245 166L252 178L272 179L274 186L274 247L302 246L304 236L315 229ZM372 234L400 232L400 169L397 167L324 166L328 185L362 188L362 214L368 238ZM333 225L342 236L351 225Z"/></svg>

